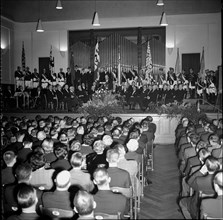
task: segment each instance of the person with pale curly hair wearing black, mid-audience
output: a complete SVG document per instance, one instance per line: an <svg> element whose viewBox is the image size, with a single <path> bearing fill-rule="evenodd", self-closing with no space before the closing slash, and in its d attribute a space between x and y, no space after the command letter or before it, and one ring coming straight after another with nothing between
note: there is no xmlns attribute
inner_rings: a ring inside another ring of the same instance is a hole
<svg viewBox="0 0 223 220"><path fill-rule="evenodd" d="M87 170L90 174L93 174L97 167L108 168L108 162L106 161L106 151L103 141L97 140L93 145L93 153L86 156Z"/></svg>

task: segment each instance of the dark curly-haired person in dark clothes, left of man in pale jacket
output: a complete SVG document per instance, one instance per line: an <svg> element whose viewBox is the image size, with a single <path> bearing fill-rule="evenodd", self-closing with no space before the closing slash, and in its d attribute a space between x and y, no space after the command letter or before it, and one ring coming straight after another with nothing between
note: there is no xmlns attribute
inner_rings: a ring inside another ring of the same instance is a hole
<svg viewBox="0 0 223 220"><path fill-rule="evenodd" d="M57 157L57 160L53 161L50 164L50 167L55 170L69 170L71 165L68 161L68 151L67 146L62 143L57 143L54 148L54 154Z"/></svg>

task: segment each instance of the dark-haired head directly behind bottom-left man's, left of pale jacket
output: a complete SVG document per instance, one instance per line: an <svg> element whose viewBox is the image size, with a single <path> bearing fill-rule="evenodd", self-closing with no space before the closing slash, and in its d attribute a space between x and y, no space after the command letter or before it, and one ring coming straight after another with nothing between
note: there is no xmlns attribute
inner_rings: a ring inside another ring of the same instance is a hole
<svg viewBox="0 0 223 220"><path fill-rule="evenodd" d="M15 176L18 182L28 182L32 173L32 167L28 163L18 164L15 168Z"/></svg>

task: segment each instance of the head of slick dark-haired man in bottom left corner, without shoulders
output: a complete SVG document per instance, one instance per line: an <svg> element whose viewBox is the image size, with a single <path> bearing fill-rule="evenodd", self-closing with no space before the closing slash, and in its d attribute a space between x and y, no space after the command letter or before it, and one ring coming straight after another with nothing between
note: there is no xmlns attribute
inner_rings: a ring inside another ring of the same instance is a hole
<svg viewBox="0 0 223 220"><path fill-rule="evenodd" d="M36 190L26 183L18 185L17 201L21 208L30 208L37 203Z"/></svg>

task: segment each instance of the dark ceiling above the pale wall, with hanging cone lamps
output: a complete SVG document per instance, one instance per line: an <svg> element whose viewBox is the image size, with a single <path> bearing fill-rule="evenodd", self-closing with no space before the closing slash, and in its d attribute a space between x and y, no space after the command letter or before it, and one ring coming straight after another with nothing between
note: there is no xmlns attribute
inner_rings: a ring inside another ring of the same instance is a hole
<svg viewBox="0 0 223 220"><path fill-rule="evenodd" d="M100 18L160 15L202 14L221 12L221 0L61 0L63 9L56 10L57 0L1 0L1 15L16 22L91 19L95 9Z"/></svg>

